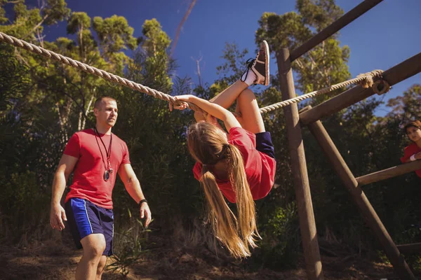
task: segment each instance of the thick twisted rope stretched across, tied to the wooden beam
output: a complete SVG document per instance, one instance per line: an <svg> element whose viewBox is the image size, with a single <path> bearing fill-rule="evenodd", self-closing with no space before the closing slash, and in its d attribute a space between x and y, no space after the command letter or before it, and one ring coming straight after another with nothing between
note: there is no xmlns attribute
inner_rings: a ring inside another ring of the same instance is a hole
<svg viewBox="0 0 421 280"><path fill-rule="evenodd" d="M154 90L150 87L146 87L145 85L141 85L140 83L135 83L131 80L128 80L126 78L121 78L120 76L114 75L112 73L109 73L107 71L95 68L93 66L90 66L88 64L85 64L83 62L79 62L75 59L71 59L70 57L65 57L64 55L60 55L58 53L55 53L51 50L46 50L45 48L41 48L38 45L34 45L32 43L27 43L26 41L20 40L18 38L15 38L13 36L9 36L7 34L4 34L3 32L0 32L0 41L3 41L4 43L8 43L10 45L15 45L18 48L23 48L25 50L29 50L30 52L34 52L37 55L43 55L44 57L48 57L50 59L54 59L58 62L61 62L62 64L67 64L69 66L75 67L77 69L80 69L82 71L85 71L87 73L91 73L95 76L98 76L100 78L104 78L105 80L109 80L112 83L118 83L119 85L124 85L126 87L130 87L133 90L137 90L138 92L143 92L146 94L151 95L152 97L159 98L162 100L165 100L166 102L170 102L171 104L180 105L182 102L175 99L175 97L171 96L170 94L166 94L163 92L159 92L158 90ZM380 77L382 76L382 70L375 70L371 71L369 73L364 73L352 80L347 80L342 83L338 83L336 85L331 85L330 87L323 88L321 90L316 90L314 92L309 92L307 94L300 95L299 97L294 97L292 99L285 100L283 102L278 102L275 104L272 104L270 106L266 106L260 109L260 113L267 113L269 111L273 111L276 109L280 109L284 106L288 106L293 103L301 102L304 99L308 99L311 97L315 97L319 94L324 94L328 92L332 92L333 90L337 90L341 87L346 87L347 85L352 85L354 83L362 83L361 85L363 87L368 87L373 85L373 77ZM379 83L377 83L378 85ZM377 87L375 87L377 88ZM374 88L373 88L374 89ZM382 84L381 92L377 92L378 94L382 94L384 92L387 92L389 90L389 85L387 83ZM194 111L202 111L199 109L199 107L195 106L194 104L189 103L189 108Z"/></svg>

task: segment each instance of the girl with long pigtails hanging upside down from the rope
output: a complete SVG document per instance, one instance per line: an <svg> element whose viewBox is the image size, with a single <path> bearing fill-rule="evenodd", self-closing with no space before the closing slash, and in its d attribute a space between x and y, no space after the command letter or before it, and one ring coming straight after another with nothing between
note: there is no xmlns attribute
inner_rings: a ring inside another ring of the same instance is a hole
<svg viewBox="0 0 421 280"><path fill-rule="evenodd" d="M236 83L210 100L194 95L175 98L191 102L206 111L206 117L195 113L198 121L189 127L187 144L196 160L193 173L206 195L209 220L214 235L236 258L250 255L259 237L256 226L255 202L265 197L274 185L276 160L274 146L260 115L252 84L269 84L269 48L260 45L256 59ZM236 118L227 108L236 101ZM185 109L187 104L175 106ZM173 106L170 104L170 110ZM228 133L218 125L222 120ZM237 217L227 202L236 203Z"/></svg>

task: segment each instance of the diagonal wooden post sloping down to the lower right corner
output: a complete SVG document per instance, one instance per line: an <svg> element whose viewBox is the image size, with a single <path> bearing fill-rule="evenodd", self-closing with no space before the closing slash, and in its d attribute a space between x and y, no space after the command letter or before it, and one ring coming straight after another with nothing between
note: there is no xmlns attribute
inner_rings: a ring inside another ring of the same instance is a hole
<svg viewBox="0 0 421 280"><path fill-rule="evenodd" d="M332 139L330 139L329 134L326 132L321 121L318 120L315 123L311 123L309 125L309 130L319 142L319 145L330 161L333 169L335 169L335 172L338 173L345 187L352 195L352 198L356 206L358 206L361 211L361 215L366 220L366 223L374 232L374 235L377 237L377 240L380 241L380 244L382 244L396 274L398 274L401 279L415 279L414 274L410 271L408 264L401 253L399 253L398 248L396 248L394 241L390 237L385 226L382 224L382 221L380 221L380 218L375 213L375 210L371 206L366 195L363 193L363 190L361 190L358 186L354 175L351 170L349 170L335 144L333 144Z"/></svg>

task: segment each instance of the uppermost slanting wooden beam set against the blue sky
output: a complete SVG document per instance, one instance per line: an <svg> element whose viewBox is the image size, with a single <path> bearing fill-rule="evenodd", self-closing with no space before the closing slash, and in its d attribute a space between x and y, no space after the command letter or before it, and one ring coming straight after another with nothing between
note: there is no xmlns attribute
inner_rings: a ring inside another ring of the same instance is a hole
<svg viewBox="0 0 421 280"><path fill-rule="evenodd" d="M378 3L383 0L366 0L361 2L358 6L349 10L348 13L342 15L342 17L338 18L335 22L330 24L328 27L320 31L318 34L314 35L313 38L309 39L309 41L300 45L300 47L296 48L291 52L290 60L293 62L298 57L304 55L306 52L314 48L319 43L325 41L327 38L338 32L343 27L349 25L350 22L354 21L356 18L359 18L361 15L366 13L366 11L373 8Z"/></svg>

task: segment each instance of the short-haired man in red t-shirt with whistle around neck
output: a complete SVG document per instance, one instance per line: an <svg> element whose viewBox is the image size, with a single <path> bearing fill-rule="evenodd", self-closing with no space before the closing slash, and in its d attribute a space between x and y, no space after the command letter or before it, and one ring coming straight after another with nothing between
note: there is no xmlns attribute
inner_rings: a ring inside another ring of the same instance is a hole
<svg viewBox="0 0 421 280"><path fill-rule="evenodd" d="M83 248L76 279L100 279L107 256L112 255L112 190L116 173L129 195L140 205L140 218L146 218L146 227L152 218L131 167L126 143L111 132L118 115L116 100L98 98L93 113L95 127L76 132L67 143L55 172L51 198L51 227L63 230L63 221L67 221L76 246ZM73 183L64 209L60 200L72 172Z"/></svg>

